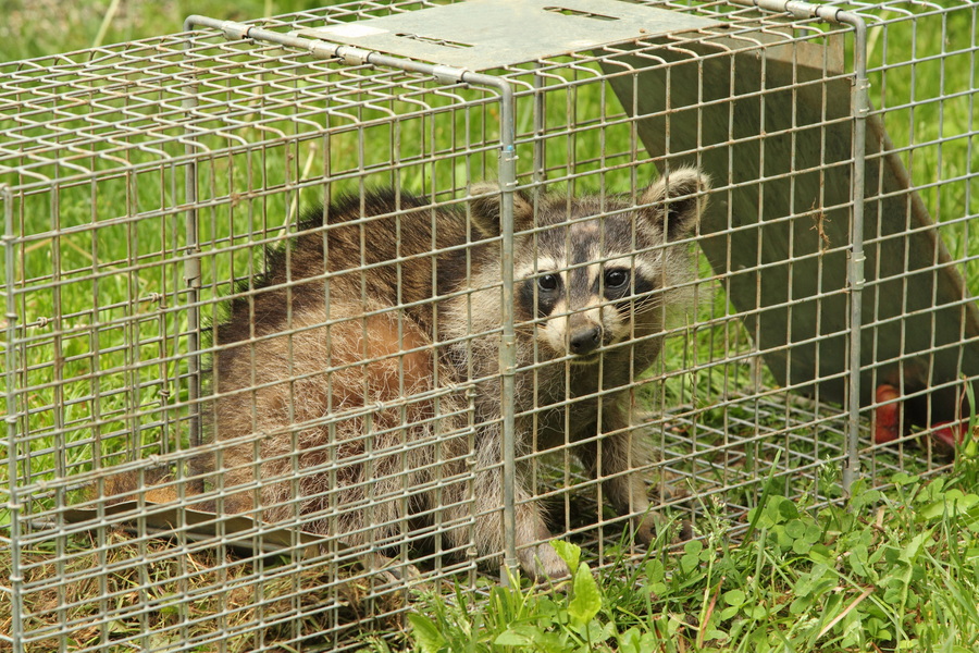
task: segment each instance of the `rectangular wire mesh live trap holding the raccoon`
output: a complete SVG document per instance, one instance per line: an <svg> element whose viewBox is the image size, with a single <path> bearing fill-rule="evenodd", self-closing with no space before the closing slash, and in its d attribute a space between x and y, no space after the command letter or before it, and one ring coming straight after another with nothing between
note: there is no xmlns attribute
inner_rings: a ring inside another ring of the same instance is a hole
<svg viewBox="0 0 979 653"><path fill-rule="evenodd" d="M352 649L552 537L641 554L646 501L736 532L766 489L940 472L979 374L977 8L748 4L351 3L2 64L0 640ZM687 250L618 308L594 281ZM538 343L644 301L672 320L587 365ZM619 441L655 452L625 509Z"/></svg>

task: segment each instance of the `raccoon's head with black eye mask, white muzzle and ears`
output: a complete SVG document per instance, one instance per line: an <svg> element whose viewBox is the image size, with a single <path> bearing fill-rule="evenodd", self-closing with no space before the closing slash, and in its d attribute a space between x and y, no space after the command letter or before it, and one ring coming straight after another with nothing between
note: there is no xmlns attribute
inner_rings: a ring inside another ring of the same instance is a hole
<svg viewBox="0 0 979 653"><path fill-rule="evenodd" d="M533 333L537 357L592 365L605 347L660 331L665 289L690 271L685 247L667 245L696 225L708 188L706 176L683 169L652 184L639 208L616 198L544 197L534 210L517 194L515 312L518 330ZM498 225L493 209L484 201L473 210L486 233Z"/></svg>

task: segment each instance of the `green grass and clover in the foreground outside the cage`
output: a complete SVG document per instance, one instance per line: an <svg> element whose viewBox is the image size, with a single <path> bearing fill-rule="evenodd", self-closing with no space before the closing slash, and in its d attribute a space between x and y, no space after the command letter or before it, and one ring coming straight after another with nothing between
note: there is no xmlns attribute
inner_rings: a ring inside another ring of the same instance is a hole
<svg viewBox="0 0 979 653"><path fill-rule="evenodd" d="M975 651L979 458L975 442L968 448L947 478L896 476L887 491L856 488L846 506L767 494L740 541L708 506L702 540L682 551L660 542L639 564L597 574L582 562L563 592L498 587L479 604L433 596L409 617L407 649Z"/></svg>

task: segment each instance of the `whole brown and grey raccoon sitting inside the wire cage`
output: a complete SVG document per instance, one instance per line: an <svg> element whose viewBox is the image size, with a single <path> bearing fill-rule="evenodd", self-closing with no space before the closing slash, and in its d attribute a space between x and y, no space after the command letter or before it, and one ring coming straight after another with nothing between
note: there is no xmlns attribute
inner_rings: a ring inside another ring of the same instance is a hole
<svg viewBox="0 0 979 653"><path fill-rule="evenodd" d="M694 229L708 186L683 169L639 207L515 197L518 457L573 446L643 541L652 454L628 389L691 276L689 247L670 243ZM387 190L346 198L270 252L214 328L215 509L364 551L436 520L443 550L504 550L500 195L472 195L469 211ZM518 464L519 562L562 577L529 471Z"/></svg>

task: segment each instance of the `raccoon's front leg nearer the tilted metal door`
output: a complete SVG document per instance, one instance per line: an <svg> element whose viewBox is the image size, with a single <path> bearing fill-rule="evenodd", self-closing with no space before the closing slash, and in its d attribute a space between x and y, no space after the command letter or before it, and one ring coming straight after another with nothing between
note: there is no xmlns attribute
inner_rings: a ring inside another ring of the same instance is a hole
<svg viewBox="0 0 979 653"><path fill-rule="evenodd" d="M645 478L653 461L650 446L612 403L603 409L602 431L604 435L597 442L582 447L582 464L592 478L602 479L605 496L616 512L633 515L636 539L648 544L656 537Z"/></svg>

